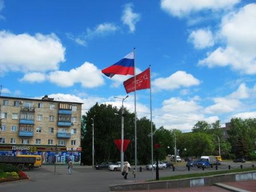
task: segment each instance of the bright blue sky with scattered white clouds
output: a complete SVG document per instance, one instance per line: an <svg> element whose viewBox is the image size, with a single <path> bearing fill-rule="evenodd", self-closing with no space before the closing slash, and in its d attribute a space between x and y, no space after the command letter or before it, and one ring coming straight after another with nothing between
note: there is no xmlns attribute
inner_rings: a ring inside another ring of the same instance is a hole
<svg viewBox="0 0 256 192"><path fill-rule="evenodd" d="M131 76L101 70L135 47L136 73L151 66L157 128L255 118L255 18L256 1L0 0L1 95L82 102L82 114L121 107ZM150 90L136 98L150 119ZM134 112L134 93L124 106Z"/></svg>

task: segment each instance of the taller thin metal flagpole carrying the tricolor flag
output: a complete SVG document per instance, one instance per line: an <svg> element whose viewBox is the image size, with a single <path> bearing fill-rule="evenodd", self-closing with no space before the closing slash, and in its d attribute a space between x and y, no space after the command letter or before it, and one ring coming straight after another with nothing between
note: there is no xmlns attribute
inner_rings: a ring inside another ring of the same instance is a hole
<svg viewBox="0 0 256 192"><path fill-rule="evenodd" d="M137 113L136 113L136 66L135 66L135 47L133 48L134 54L134 113L135 113L135 121L134 121L134 140L135 140L135 173L137 173ZM137 174L135 174L135 183L137 183Z"/></svg>

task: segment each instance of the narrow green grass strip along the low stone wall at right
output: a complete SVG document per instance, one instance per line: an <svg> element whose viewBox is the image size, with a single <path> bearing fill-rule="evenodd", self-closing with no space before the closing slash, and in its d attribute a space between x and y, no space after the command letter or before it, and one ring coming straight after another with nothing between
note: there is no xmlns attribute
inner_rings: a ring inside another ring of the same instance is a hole
<svg viewBox="0 0 256 192"><path fill-rule="evenodd" d="M219 175L219 174L226 174L226 173L240 173L243 171L253 171L253 170L256 170L256 167L246 168L246 169L236 169L236 170L213 171L213 172L206 172L206 173L174 175L174 176L169 176L169 177L161 177L161 178L159 178L159 181L174 180L174 179L186 179L186 178L193 178L193 177L206 177L206 176L210 176L210 175ZM155 179L150 179L147 181L155 181Z"/></svg>

